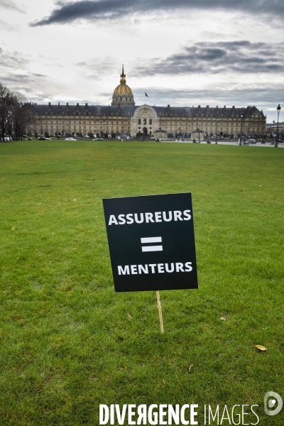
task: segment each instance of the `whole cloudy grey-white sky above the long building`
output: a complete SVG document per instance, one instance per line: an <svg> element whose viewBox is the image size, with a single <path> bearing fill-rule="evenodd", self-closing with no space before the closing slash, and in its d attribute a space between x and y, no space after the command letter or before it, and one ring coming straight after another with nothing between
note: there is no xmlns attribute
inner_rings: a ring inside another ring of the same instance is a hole
<svg viewBox="0 0 284 426"><path fill-rule="evenodd" d="M247 107L284 121L283 0L0 0L0 82L45 104ZM282 115L282 117L281 117Z"/></svg>

